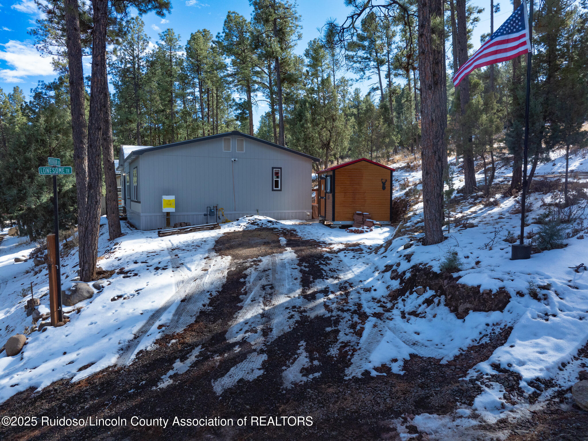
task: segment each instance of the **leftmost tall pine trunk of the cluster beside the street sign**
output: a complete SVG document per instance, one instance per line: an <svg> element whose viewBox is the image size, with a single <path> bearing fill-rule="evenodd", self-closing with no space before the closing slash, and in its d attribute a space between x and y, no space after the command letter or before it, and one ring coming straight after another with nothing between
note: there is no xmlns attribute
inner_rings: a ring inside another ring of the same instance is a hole
<svg viewBox="0 0 588 441"><path fill-rule="evenodd" d="M76 195L78 197L78 257L80 278L83 281L93 280L98 253L98 219L96 213L91 213L89 208L98 207L100 210L100 197L96 200L96 186L92 187L92 198L88 194L88 148L85 90L83 85L82 65L82 39L79 27L79 10L77 0L65 0L65 27L66 45L68 48L69 71L69 101L72 117L72 140L74 144L74 167ZM92 164L92 178L96 177L95 166L100 167L100 152L98 150L98 162ZM92 205L93 204L93 205ZM92 219L91 219L92 217Z"/></svg>

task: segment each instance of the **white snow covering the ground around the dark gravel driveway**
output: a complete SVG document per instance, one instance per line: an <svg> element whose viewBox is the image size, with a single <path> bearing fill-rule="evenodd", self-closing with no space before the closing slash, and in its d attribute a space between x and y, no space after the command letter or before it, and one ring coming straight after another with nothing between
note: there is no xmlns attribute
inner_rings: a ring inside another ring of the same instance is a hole
<svg viewBox="0 0 588 441"><path fill-rule="evenodd" d="M553 171L538 169L539 173ZM415 188L420 170L398 170L395 187L405 179L409 186L396 190L395 197ZM455 185L458 188L463 185L459 175L455 177ZM531 221L546 210L541 204L553 197L554 194L530 195ZM509 232L515 236L519 232L519 215L512 213L516 210L516 198L498 195L497 201L497 205L489 207L483 205L482 200L456 207L455 210L467 215L468 223L475 227L452 226L449 239L436 246L423 246L419 241L422 238L422 203L417 204L409 223L403 227L406 233L396 237L387 250L382 248L377 253L375 248L392 238L394 228L375 228L358 235L316 223L279 222L255 216L224 224L221 230L164 238L159 238L155 231L138 231L125 224L125 236L112 243L107 240L103 218L99 238L99 256L103 257L98 264L104 270L117 271L110 278L111 284L75 308L65 307L66 312L82 307L68 314L71 322L66 326L48 327L42 333L29 334L18 356L0 354L0 402L29 387L41 390L63 378L75 382L121 363L121 354L125 351L125 363L132 362L136 353L149 349L156 339L169 331L166 328L173 322L175 311L183 307L183 297L178 297L178 292L193 274L209 271L211 265L216 268L206 296L191 306L192 320L218 293L226 278L230 257L221 258L211 250L223 233L272 227L325 244L325 250L332 253L329 267L335 272L323 280L315 280L313 289L331 291L316 300L302 299L300 270L296 266L298 257L292 248L260 257L255 270L252 268L245 273L246 290L241 308L226 333L227 341L247 344L253 352L214 380L213 390L217 394L223 394L239 380L251 381L262 376L268 358L266 346L292 330L302 314L309 317L336 314L340 319L339 336L331 352L335 354L347 344L356 347L345 372L348 379L360 377L366 370L372 376L385 375L379 369L382 366L403 374L405 362L415 354L447 363L467 352L469 347L487 343L500 330L512 327L506 342L465 376L482 387L483 392L476 397L473 406L460 406L449 416L418 415L412 418L412 424L431 435L442 433L440 427L446 431L443 433L453 430L455 435L468 427L467 430L475 430L480 423L496 422L507 415L525 415L532 409L527 400L531 394L539 394L533 406L540 406L557 389L570 387L577 381L578 372L586 369L586 359L577 354L588 341L588 271L577 273L569 267L588 263L588 247L580 238L588 234L588 230L587 226L580 229L567 240L565 248L533 254L527 261L512 261L510 244L503 238ZM532 224L526 231L536 228ZM281 237L280 243L283 245L287 241ZM362 253L348 251L348 247L359 247ZM48 306L45 268L35 274L31 260L14 262L14 257L26 255L32 248L34 245L18 238L6 238L0 244L2 343L31 325L31 318L26 317L24 311L26 296L30 296L30 291L26 290L31 281L35 297L41 297L42 304ZM417 264L440 272L444 256L451 251L456 251L463 261L462 270L453 274L459 278L459 284L478 287L480 296L499 291L510 294L510 301L502 311L466 311L465 317L458 319L445 299L436 296L427 286L415 287L391 300L391 291L400 288L402 279L391 278L390 267L399 274L404 273L405 279ZM76 263L76 253L62 258L64 286L76 276ZM271 307L263 303L263 287L269 284L279 286L276 291L281 296L272 300ZM343 291L342 286L349 289ZM349 304L360 305L366 314L360 336L355 334L353 313L336 309L340 296L346 296ZM176 323L174 331L180 331L189 323L190 320ZM270 331L260 332L268 324ZM133 340L134 336L140 338ZM282 368L285 389L320 379L320 366L315 369L317 372L307 373L317 362L308 352L306 342L301 340L298 347L298 353ZM168 387L171 377L186 372L202 356L201 351L201 347L197 347L183 362L176 360L157 387ZM505 397L505 387L493 380L498 373L496 369L517 374L520 380L516 387L522 391L520 396ZM545 380L552 381L555 386L536 390L536 384L546 384Z"/></svg>

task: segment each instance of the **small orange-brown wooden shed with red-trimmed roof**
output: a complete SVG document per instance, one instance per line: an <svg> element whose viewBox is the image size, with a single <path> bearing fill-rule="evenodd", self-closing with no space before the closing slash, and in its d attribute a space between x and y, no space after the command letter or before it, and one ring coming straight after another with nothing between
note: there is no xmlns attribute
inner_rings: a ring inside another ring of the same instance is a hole
<svg viewBox="0 0 588 441"><path fill-rule="evenodd" d="M372 220L389 224L392 218L392 174L395 170L366 158L319 172L319 220L353 224L362 211Z"/></svg>

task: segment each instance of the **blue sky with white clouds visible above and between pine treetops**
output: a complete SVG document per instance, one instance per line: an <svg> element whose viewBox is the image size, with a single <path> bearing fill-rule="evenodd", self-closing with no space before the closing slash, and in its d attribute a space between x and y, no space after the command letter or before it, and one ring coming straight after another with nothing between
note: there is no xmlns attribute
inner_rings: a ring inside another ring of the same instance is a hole
<svg viewBox="0 0 588 441"><path fill-rule="evenodd" d="M480 24L474 31L475 48L480 45L480 34L490 29L490 0L472 0L473 4L486 8L480 15ZM173 9L165 19L155 14L143 17L145 31L155 42L159 32L173 28L181 35L182 42L198 29L209 29L213 35L222 30L222 24L228 11L236 11L246 17L251 14L248 0L172 0ZM502 24L512 11L510 1L501 3L502 11L495 16L495 29ZM303 54L308 42L318 37L320 28L327 19L336 18L342 22L349 9L343 0L299 0L298 12L302 16L302 39L296 52ZM29 29L35 25L38 11L32 0L0 0L0 88L4 92L12 91L16 85L28 95L39 79L50 81L55 77L51 68L51 59L42 57L36 51ZM368 83L358 84L367 91ZM256 110L256 120L265 111L263 107ZM257 122L257 121L256 121Z"/></svg>

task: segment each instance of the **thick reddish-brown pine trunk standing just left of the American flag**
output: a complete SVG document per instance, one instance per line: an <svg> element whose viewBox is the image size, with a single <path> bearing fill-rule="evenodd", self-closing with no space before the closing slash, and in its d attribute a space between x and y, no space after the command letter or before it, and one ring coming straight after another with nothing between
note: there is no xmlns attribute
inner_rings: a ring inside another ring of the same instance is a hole
<svg viewBox="0 0 588 441"><path fill-rule="evenodd" d="M423 217L425 244L432 245L443 241L443 151L447 125L443 0L419 0L418 13Z"/></svg>

